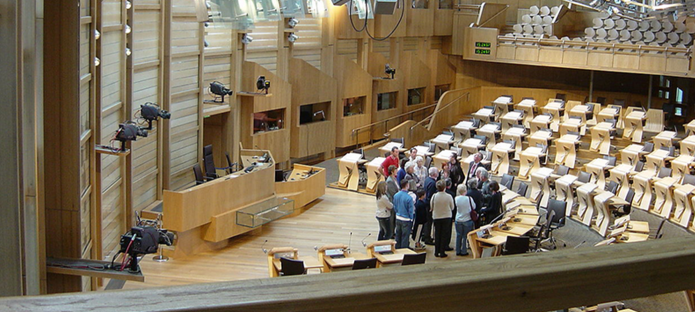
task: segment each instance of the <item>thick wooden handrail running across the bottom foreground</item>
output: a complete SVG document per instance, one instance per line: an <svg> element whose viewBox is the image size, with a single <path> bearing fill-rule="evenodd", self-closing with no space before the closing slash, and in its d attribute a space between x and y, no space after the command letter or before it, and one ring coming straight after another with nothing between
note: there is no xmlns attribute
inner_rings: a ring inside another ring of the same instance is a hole
<svg viewBox="0 0 695 312"><path fill-rule="evenodd" d="M550 311L694 289L693 242L688 236L349 273L3 298L0 310Z"/></svg>

